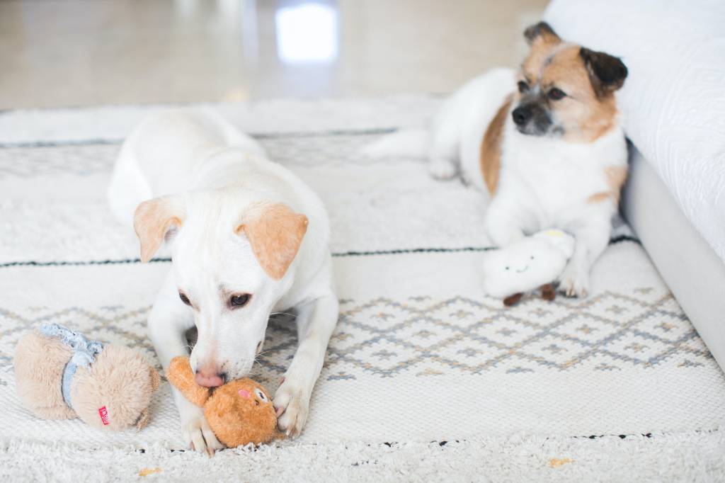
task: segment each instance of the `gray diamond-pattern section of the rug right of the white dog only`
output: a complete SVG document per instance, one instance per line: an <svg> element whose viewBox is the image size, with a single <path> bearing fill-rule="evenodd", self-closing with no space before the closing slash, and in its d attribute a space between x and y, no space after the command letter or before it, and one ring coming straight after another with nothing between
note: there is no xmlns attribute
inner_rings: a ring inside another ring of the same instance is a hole
<svg viewBox="0 0 725 483"><path fill-rule="evenodd" d="M671 294L603 292L511 308L489 298L345 300L327 368L336 377L393 377L422 366L481 373L647 368L670 361L678 367L711 361Z"/></svg>

